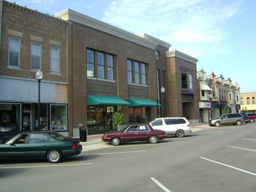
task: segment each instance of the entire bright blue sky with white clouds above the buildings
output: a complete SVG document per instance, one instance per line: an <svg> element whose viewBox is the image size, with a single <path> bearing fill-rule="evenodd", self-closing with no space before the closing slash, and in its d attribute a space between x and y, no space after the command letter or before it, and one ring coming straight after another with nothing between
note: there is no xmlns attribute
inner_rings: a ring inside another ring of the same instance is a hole
<svg viewBox="0 0 256 192"><path fill-rule="evenodd" d="M10 0L9 0L10 1ZM139 35L147 33L198 60L196 69L256 92L255 0L15 0L54 15L67 8Z"/></svg>

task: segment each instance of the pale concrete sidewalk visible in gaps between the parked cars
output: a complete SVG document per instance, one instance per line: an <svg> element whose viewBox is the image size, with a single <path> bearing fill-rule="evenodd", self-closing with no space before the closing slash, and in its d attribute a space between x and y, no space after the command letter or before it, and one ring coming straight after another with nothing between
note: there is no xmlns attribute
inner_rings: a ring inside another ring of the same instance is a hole
<svg viewBox="0 0 256 192"><path fill-rule="evenodd" d="M209 124L207 123L190 125L190 129L192 130L192 132L201 131L207 128L209 128ZM101 140L102 136L103 134L88 135L87 141L81 142L81 145L83 145L83 152L88 150L95 150L98 148L113 147L112 145L102 141Z"/></svg>

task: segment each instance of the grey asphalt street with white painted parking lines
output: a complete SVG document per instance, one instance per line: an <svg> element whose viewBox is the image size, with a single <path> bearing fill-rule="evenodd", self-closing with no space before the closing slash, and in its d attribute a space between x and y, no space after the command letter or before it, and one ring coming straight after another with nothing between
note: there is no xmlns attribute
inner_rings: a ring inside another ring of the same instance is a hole
<svg viewBox="0 0 256 192"><path fill-rule="evenodd" d="M256 191L256 123L103 145L58 164L1 161L0 191Z"/></svg>

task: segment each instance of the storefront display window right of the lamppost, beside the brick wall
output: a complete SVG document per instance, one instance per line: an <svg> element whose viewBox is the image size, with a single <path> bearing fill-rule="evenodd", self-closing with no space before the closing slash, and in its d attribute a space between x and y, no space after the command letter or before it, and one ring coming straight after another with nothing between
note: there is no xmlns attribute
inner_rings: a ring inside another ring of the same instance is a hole
<svg viewBox="0 0 256 192"><path fill-rule="evenodd" d="M51 108L51 130L67 131L67 105L50 105Z"/></svg>

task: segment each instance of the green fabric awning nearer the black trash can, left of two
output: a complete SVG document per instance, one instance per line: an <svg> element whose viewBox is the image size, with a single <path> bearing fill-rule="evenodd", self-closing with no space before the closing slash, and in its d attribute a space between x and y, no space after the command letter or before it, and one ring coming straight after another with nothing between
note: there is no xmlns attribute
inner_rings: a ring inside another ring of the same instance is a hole
<svg viewBox="0 0 256 192"><path fill-rule="evenodd" d="M88 106L127 106L129 102L115 96L87 95Z"/></svg>

